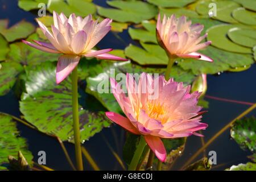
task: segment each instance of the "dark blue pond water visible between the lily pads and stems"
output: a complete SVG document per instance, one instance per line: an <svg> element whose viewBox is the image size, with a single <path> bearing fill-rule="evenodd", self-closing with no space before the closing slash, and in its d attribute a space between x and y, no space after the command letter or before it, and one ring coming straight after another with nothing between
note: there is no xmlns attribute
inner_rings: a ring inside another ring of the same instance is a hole
<svg viewBox="0 0 256 182"><path fill-rule="evenodd" d="M96 1L96 3L101 6L107 6L103 0ZM23 11L19 9L17 5L17 0L0 0L0 19L8 18L11 25L22 19L36 24L34 21L36 14ZM125 41L121 41L118 37ZM110 32L98 44L98 47L123 49L131 42L133 42L133 40L130 39L127 31L118 34ZM254 64L250 69L244 72L221 73L220 76L209 75L207 95L228 98L230 100L256 102L256 85L254 84L255 68L256 65ZM209 101L209 112L204 115L203 122L208 123L209 127L207 130L203 131L205 141L210 139L218 130L249 107L248 105L234 104L208 98L206 98L206 100ZM0 103L1 112L9 113L16 117L22 115L19 111L19 101L12 91L6 96L0 97ZM256 110L248 114L248 116L250 115L256 115ZM44 150L47 154L47 166L59 170L72 169L69 167L60 144L56 139L29 129L20 123L18 123L18 129L21 131L21 136L27 138L29 150L32 151L34 155L34 161L38 159L38 151ZM116 151L119 156L122 156L125 132L118 126L112 126L94 135L94 137L90 138L84 144L100 169L122 169L116 162L112 152L110 152L103 137L108 140L109 144L114 148L114 151ZM75 162L75 148L73 144L68 142L64 144L73 162ZM200 147L201 141L199 137L189 137L184 154L177 160L173 169L179 169ZM206 154L212 150L217 152L217 166L213 169L218 170L223 170L233 164L245 163L248 161L246 156L250 155L250 152L242 151L238 144L230 139L229 130L223 133L207 148ZM201 156L199 156L199 158ZM85 169L92 169L86 161Z"/></svg>

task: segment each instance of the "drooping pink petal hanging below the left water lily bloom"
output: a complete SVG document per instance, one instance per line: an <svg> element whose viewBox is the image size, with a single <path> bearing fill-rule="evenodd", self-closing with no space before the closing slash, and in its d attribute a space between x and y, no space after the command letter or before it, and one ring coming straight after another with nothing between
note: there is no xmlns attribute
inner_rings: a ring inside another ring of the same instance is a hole
<svg viewBox="0 0 256 182"><path fill-rule="evenodd" d="M73 69L79 63L80 56L76 55L61 55L59 57L56 69L56 83L59 84L63 81L69 73L73 71Z"/></svg>

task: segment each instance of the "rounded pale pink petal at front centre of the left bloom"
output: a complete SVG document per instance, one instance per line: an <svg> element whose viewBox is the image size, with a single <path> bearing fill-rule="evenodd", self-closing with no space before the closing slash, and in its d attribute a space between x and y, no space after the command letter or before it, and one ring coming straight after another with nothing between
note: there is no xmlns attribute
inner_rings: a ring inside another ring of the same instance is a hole
<svg viewBox="0 0 256 182"><path fill-rule="evenodd" d="M84 30L78 31L72 39L71 47L75 53L84 51L87 35Z"/></svg>

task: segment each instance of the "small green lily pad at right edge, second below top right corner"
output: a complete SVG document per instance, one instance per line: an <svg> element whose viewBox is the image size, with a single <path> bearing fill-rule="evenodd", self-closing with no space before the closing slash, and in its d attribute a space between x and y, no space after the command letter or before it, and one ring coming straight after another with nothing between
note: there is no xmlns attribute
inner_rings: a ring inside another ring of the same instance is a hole
<svg viewBox="0 0 256 182"><path fill-rule="evenodd" d="M243 7L238 7L238 9L232 12L234 19L243 24L256 25L256 13L253 11L248 11Z"/></svg>

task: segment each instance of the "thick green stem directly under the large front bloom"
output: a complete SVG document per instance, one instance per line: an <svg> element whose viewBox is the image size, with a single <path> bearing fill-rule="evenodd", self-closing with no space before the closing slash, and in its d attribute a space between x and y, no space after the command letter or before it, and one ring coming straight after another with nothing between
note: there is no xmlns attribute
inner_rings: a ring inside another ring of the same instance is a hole
<svg viewBox="0 0 256 182"><path fill-rule="evenodd" d="M146 141L143 136L141 136L141 140L139 140L139 144L136 148L136 151L133 155L133 159L131 159L131 163L128 167L129 171L135 171L137 168L137 165L139 163L139 159L141 158L141 155L143 153L144 147L146 146Z"/></svg>

